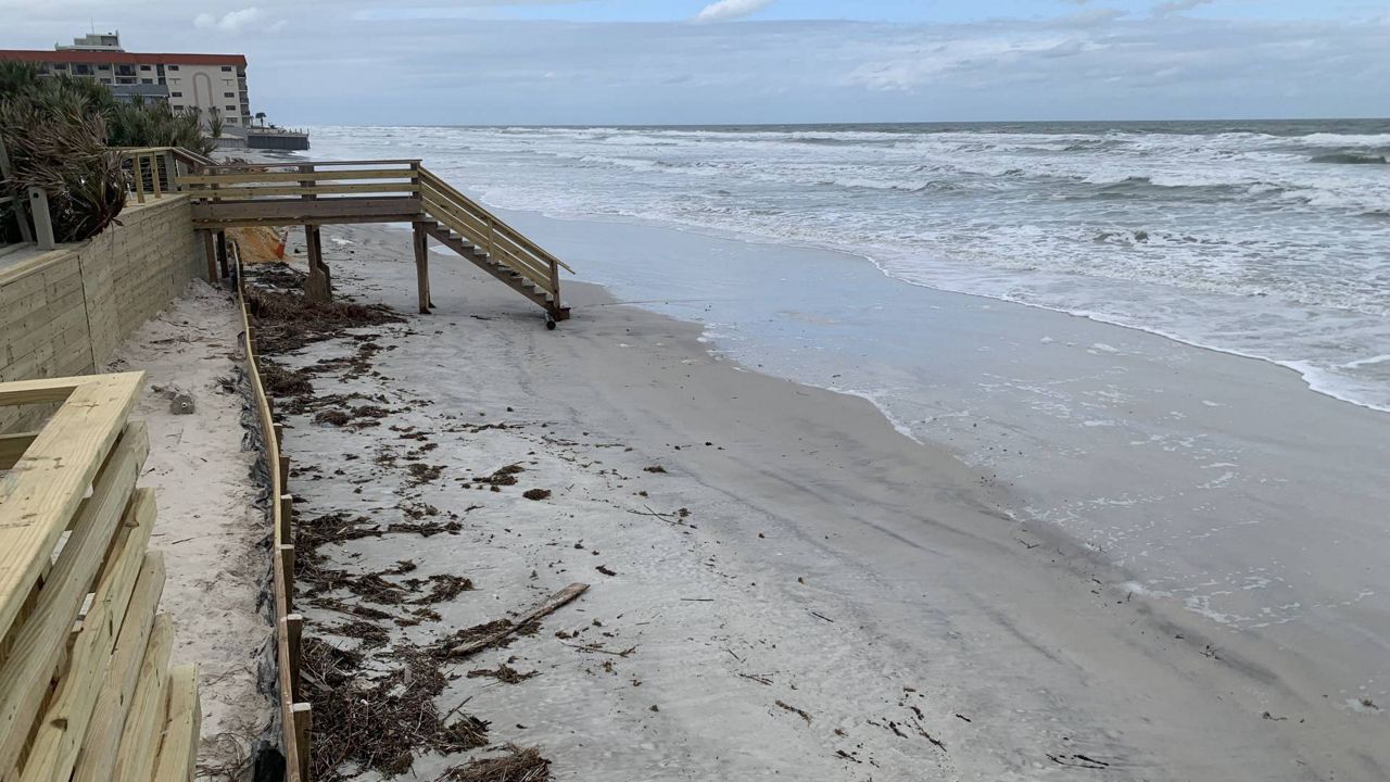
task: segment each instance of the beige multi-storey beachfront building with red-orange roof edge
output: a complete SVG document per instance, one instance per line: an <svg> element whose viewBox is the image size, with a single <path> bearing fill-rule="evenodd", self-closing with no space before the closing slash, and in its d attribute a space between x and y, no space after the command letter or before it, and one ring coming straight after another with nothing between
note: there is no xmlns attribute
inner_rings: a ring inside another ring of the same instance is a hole
<svg viewBox="0 0 1390 782"><path fill-rule="evenodd" d="M93 33L53 51L0 49L3 60L35 63L47 74L93 78L108 85L117 100L167 100L175 111L197 110L204 121L217 113L232 135L245 135L252 122L242 54L126 51L118 33Z"/></svg>

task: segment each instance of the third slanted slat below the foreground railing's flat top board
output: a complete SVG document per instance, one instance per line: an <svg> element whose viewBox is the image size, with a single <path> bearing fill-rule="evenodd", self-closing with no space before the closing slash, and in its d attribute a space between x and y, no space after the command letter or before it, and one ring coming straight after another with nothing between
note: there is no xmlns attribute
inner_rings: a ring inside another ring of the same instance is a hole
<svg viewBox="0 0 1390 782"><path fill-rule="evenodd" d="M121 726L125 725L125 717L135 699L135 686L140 679L140 664L158 628L154 614L163 591L164 557L158 551L147 551L139 580L135 583L135 594L131 596L131 604L121 621L121 635L117 637L106 680L92 710L82 751L75 758L72 782L100 782L115 763ZM161 621L163 632L172 637L172 622L168 616L161 616Z"/></svg>

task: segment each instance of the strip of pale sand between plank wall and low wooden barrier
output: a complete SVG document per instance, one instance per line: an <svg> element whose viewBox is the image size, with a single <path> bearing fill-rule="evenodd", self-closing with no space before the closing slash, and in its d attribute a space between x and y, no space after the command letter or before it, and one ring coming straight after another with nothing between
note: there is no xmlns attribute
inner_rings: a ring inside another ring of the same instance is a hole
<svg viewBox="0 0 1390 782"><path fill-rule="evenodd" d="M242 397L222 384L242 360L239 330L232 299L195 280L125 341L108 367L147 373L132 415L150 433L140 484L158 495L150 547L164 551L168 570L160 611L174 618L174 662L199 664L199 763L207 767L246 758L271 710L256 690L270 629L256 603L267 529L253 506L254 454L242 449ZM178 392L192 395L192 415L171 412L170 397Z"/></svg>

